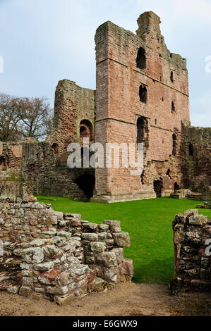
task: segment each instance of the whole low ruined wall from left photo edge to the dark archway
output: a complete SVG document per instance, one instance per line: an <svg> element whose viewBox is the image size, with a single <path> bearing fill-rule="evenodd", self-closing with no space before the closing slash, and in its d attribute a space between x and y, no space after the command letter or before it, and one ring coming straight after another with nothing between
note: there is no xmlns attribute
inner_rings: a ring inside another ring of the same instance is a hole
<svg viewBox="0 0 211 331"><path fill-rule="evenodd" d="M0 168L1 196L23 196L28 192L88 201L87 194L76 184L76 180L85 173L94 176L94 171L68 168L68 153L65 157L55 154L49 142L29 139L3 143L1 156L5 159Z"/></svg>

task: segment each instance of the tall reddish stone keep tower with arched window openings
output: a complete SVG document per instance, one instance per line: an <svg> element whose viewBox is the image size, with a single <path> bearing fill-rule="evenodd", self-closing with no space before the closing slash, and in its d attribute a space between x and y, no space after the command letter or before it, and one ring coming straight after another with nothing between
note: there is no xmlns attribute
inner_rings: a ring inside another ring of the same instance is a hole
<svg viewBox="0 0 211 331"><path fill-rule="evenodd" d="M144 171L97 168L93 201L163 196L181 182L181 122L189 121L186 59L167 49L160 19L146 12L137 35L111 22L95 35L97 94L95 141L143 142Z"/></svg>

